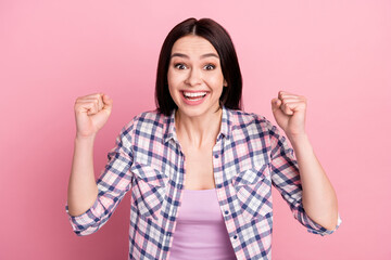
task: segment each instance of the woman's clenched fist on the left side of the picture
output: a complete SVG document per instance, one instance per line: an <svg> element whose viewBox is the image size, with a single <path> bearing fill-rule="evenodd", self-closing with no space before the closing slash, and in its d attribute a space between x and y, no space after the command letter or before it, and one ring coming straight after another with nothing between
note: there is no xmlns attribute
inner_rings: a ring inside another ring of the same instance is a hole
<svg viewBox="0 0 391 260"><path fill-rule="evenodd" d="M103 93L77 98L75 102L76 138L93 138L108 121L113 100Z"/></svg>

